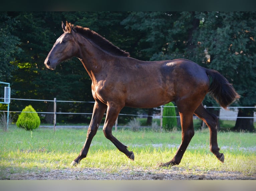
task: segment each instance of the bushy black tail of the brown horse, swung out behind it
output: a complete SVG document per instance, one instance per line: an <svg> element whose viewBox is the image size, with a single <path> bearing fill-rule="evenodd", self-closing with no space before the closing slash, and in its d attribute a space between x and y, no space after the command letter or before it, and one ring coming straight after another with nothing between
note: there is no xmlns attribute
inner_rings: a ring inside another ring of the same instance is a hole
<svg viewBox="0 0 256 191"><path fill-rule="evenodd" d="M208 92L223 108L226 109L229 104L240 98L233 86L219 72L207 69L206 74L212 77Z"/></svg>

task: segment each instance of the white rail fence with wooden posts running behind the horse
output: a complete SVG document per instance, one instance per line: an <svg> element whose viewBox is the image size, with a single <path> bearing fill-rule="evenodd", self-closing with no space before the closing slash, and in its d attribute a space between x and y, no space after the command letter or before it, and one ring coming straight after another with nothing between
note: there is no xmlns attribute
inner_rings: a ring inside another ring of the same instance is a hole
<svg viewBox="0 0 256 191"><path fill-rule="evenodd" d="M0 98L0 99L4 99L4 98ZM55 130L55 126L56 126L56 115L57 114L85 114L85 115L92 115L92 113L83 113L83 112L79 112L79 113L75 113L75 112L57 112L56 111L56 103L57 102L73 102L73 103L94 103L94 101L69 101L69 100L56 100L56 98L54 98L53 100L50 100L50 99L22 99L22 98L10 98L11 100L26 100L26 101L44 101L44 102L54 102L54 111L53 112L42 112L42 111L39 111L37 113L41 113L41 114L53 114L54 115L54 121L53 121L53 127L54 127L54 130ZM143 114L126 114L126 113L120 113L119 115L128 115L128 116L137 116L137 117L152 117L152 118L160 118L161 120L161 124L160 126L162 127L162 118L163 117L176 117L176 118L179 118L179 116L163 116L162 114L162 111L163 111L163 108L164 107L177 107L177 106L165 106L165 105L161 105L159 106L160 108L160 115L143 115ZM206 108L221 108L222 107L212 107L212 106L205 106ZM256 112L256 106L254 107L248 107L248 106L244 106L244 107L228 107L228 109L238 109L238 108L255 108L255 112ZM224 109L223 109L224 110ZM0 112L8 112L8 113L20 113L22 111L0 111ZM254 121L256 121L256 115L255 115L255 112L254 112L254 116L253 117L238 117L237 114L234 114L233 113L233 116L218 116L219 118L225 118L225 119L237 119L237 118L253 118ZM117 129L117 121L116 121L116 129Z"/></svg>

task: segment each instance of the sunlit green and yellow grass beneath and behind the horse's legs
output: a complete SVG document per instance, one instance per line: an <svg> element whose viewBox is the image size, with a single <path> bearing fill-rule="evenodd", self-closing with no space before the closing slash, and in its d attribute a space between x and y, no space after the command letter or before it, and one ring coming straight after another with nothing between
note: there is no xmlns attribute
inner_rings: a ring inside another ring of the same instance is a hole
<svg viewBox="0 0 256 191"><path fill-rule="evenodd" d="M87 129L38 128L26 131L10 126L0 132L0 179L9 173L51 171L53 169L77 168L70 163L77 157L86 139ZM181 141L181 132L152 132L149 129L132 132L113 130L113 135L135 154L135 162L129 160L104 137L99 129L94 137L87 158L78 168L100 168L119 171L120 168L158 168L169 161ZM225 154L222 164L209 150L209 130L198 130L191 140L180 168L202 171L236 171L245 175L256 173L256 133L219 132L218 143Z"/></svg>

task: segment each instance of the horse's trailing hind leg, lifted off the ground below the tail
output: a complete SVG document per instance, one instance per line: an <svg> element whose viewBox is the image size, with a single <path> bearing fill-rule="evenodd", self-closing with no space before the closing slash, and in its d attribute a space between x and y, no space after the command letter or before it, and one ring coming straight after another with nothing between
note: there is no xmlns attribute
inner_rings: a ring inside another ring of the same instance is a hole
<svg viewBox="0 0 256 191"><path fill-rule="evenodd" d="M221 161L224 162L224 154L220 153L220 148L217 143L217 127L218 127L218 117L213 113L207 111L207 109L200 104L196 109L195 114L201 118L209 127L210 130L210 150L211 152Z"/></svg>

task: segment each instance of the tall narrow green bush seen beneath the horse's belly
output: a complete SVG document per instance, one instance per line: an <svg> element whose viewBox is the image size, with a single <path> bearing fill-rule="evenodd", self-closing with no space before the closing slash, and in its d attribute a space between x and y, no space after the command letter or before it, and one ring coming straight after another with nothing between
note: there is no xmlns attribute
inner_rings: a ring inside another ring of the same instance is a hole
<svg viewBox="0 0 256 191"><path fill-rule="evenodd" d="M165 104L164 106L174 106L172 102ZM173 127L177 127L177 118L170 117L176 116L175 107L164 107L163 108L163 129L172 130Z"/></svg>

